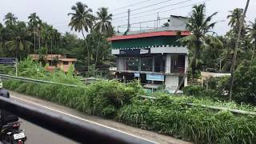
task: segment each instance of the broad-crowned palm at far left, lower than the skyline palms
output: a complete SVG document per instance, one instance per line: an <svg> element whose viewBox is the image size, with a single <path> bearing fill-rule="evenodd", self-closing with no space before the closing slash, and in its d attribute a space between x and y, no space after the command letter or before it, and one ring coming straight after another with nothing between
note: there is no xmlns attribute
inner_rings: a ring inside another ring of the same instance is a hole
<svg viewBox="0 0 256 144"><path fill-rule="evenodd" d="M29 36L30 31L26 29L25 22L18 22L18 25L14 27L14 37L6 42L6 46L9 50L14 51L16 58L19 55L21 59L21 52L29 50L30 45L32 45Z"/></svg>

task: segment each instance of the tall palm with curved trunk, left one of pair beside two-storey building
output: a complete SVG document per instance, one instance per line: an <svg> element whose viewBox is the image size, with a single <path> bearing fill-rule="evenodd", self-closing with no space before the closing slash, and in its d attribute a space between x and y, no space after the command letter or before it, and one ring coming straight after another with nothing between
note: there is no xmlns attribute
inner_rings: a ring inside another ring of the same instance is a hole
<svg viewBox="0 0 256 144"><path fill-rule="evenodd" d="M71 30L75 30L78 32L82 32L82 36L86 42L85 32L89 32L93 26L94 16L91 14L92 10L88 8L88 6L82 2L77 2L76 6L72 6L71 10L73 13L69 13L71 15L69 26ZM90 70L90 51L86 42L86 50L87 50L87 62L88 62L88 70Z"/></svg>

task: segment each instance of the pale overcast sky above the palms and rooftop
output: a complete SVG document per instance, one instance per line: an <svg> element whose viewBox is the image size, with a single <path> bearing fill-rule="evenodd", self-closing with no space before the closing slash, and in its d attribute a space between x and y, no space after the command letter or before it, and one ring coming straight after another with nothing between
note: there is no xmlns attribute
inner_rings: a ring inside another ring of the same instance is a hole
<svg viewBox="0 0 256 144"><path fill-rule="evenodd" d="M37 13L43 20L53 25L56 29L62 33L70 31L67 26L69 17L67 14L71 12L70 7L78 2L77 0L0 0L0 22L3 21L4 16L11 12L18 17L20 21L26 21L27 17L31 13ZM114 15L115 27L125 25L127 23L126 11L131 10L131 23L144 22L157 19L157 13L159 12L160 18L167 18L170 14L188 16L191 11L191 5L200 2L206 2L206 14L212 14L218 12L218 15L214 18L214 21L218 22L214 30L219 34L226 34L229 30L227 26L228 20L226 16L229 14L229 10L233 10L236 7L244 8L246 0L81 0L80 2L86 3L90 8L95 11L99 7L109 7L110 12ZM138 3L139 2L139 3ZM135 6L130 6L138 3ZM118 9L123 6L122 9ZM118 10L117 10L118 9ZM124 13L124 14L122 14ZM141 14L139 14L141 13ZM247 21L254 21L256 18L256 0L250 0L250 6L247 13ZM161 24L166 22L162 20ZM132 25L132 30L138 30L139 25ZM152 27L154 22L146 22L141 25L142 27ZM120 30L126 29L125 26Z"/></svg>

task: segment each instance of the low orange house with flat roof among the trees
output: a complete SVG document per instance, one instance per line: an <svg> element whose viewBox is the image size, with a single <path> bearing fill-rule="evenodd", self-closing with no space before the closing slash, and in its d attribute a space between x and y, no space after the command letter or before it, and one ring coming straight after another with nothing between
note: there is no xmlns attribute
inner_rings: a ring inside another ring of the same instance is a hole
<svg viewBox="0 0 256 144"><path fill-rule="evenodd" d="M39 54L30 54L30 57L34 61L39 60ZM77 58L66 58L66 54L47 54L44 58L46 60L47 70L54 71L55 69L63 70L67 72L70 66L74 66L74 62L77 62Z"/></svg>

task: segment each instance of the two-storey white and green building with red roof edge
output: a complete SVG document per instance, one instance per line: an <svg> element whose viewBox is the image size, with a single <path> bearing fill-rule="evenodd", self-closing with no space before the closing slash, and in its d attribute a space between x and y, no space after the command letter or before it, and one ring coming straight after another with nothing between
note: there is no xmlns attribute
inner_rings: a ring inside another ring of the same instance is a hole
<svg viewBox="0 0 256 144"><path fill-rule="evenodd" d="M177 40L188 35L186 18L174 15L166 27L115 34L108 41L117 67L110 70L124 82L137 78L152 89L165 85L176 90L185 75L186 86L189 51Z"/></svg>

